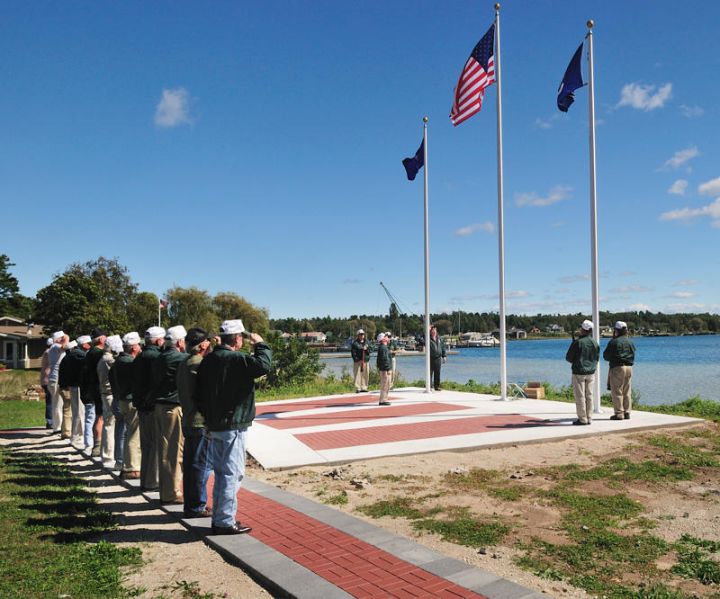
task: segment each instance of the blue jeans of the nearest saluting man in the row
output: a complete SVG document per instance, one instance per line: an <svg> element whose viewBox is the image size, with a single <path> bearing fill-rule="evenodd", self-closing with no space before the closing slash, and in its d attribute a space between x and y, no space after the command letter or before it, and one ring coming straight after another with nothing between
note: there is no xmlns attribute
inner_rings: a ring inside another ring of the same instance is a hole
<svg viewBox="0 0 720 599"><path fill-rule="evenodd" d="M233 526L237 493L245 476L247 428L239 431L211 431L210 459L215 473L213 526Z"/></svg>

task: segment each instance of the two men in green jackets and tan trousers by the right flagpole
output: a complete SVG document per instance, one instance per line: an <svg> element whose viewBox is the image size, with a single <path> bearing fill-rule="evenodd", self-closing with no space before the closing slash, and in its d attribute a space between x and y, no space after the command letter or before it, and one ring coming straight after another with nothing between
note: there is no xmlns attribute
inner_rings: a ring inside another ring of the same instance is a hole
<svg viewBox="0 0 720 599"><path fill-rule="evenodd" d="M576 425L592 423L593 383L600 357L600 346L592 337L593 323L584 320L580 336L573 339L565 359L572 364L572 386L575 396ZM632 411L632 367L635 345L628 337L627 324L618 320L613 338L608 342L603 359L609 362L608 389L612 395L614 414L610 420L629 420Z"/></svg>

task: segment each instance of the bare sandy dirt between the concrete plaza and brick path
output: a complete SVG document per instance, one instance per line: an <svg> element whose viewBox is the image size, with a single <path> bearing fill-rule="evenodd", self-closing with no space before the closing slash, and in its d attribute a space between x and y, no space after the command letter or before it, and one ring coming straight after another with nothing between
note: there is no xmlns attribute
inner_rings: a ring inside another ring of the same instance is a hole
<svg viewBox="0 0 720 599"><path fill-rule="evenodd" d="M703 427L717 434L715 425L695 428ZM684 435L688 427L658 432L678 435L678 438L687 440ZM605 435L465 452L388 457L332 467L303 467L285 471L264 471L252 465L251 460L248 475L315 501L333 503L337 509L551 596L587 597L588 594L582 589L564 582L539 578L513 563L513 558L518 555L514 548L518 543L532 538L555 544L566 542L565 533L559 526L562 513L551 502L539 499L537 493L525 493L519 500L505 501L483 492L453 491L448 490L446 485L442 489L441 481L447 473L482 468L500 471L502 484L510 483L533 491L547 489L552 485L552 477L546 476L543 469L549 467L568 464L593 466L617 457L652 460L654 448L643 443L650 434L636 432ZM583 483L579 488L586 493L608 493L595 481ZM441 490L444 492L438 493ZM670 487L645 483L634 484L622 491L645 507L643 516L654 520L654 535L667 541L675 541L685 533L720 540L720 473L717 471L704 472L702 477L696 476L690 482L672 483ZM339 496L339 502L333 500ZM342 504L344 496L347 501ZM496 517L509 523L513 532L494 547L466 547L443 541L435 534L419 534L412 527L412 522L405 518L383 516L372 519L357 511L359 506L398 496L430 497L425 502L428 507L467 506L473 514ZM683 581L682 584L683 591L690 594L702 596L707 592L699 583Z"/></svg>

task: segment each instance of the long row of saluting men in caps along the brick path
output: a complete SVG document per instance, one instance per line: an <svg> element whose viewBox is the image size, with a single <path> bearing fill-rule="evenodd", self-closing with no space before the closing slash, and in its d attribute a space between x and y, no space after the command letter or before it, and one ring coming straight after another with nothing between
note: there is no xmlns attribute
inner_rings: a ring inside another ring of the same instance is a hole
<svg viewBox="0 0 720 599"><path fill-rule="evenodd" d="M270 347L240 319L224 321L214 345L200 327L153 326L143 337L53 333L40 373L47 427L121 478L158 490L161 503L183 505L186 517L211 515L214 534L249 532L235 520L237 491ZM250 353L240 351L246 342Z"/></svg>

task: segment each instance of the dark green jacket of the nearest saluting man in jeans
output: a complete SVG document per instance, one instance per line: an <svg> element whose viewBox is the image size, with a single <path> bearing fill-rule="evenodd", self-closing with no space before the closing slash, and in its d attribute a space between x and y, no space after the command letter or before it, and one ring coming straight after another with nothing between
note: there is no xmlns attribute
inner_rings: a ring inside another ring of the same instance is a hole
<svg viewBox="0 0 720 599"><path fill-rule="evenodd" d="M254 355L218 345L200 364L195 405L209 431L241 430L255 418L255 379L272 368L272 350L255 344Z"/></svg>

